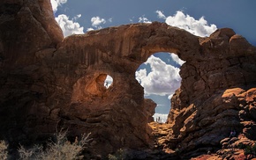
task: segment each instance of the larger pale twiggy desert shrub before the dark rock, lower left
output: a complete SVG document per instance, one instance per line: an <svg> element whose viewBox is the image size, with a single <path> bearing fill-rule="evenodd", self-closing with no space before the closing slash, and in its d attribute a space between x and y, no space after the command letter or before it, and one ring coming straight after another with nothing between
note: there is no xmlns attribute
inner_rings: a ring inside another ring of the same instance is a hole
<svg viewBox="0 0 256 160"><path fill-rule="evenodd" d="M50 140L46 148L35 145L32 149L25 149L22 145L19 147L20 159L38 159L38 160L72 160L82 159L80 153L86 148L87 143L91 140L89 135L82 135L79 141L76 137L75 142L70 142L66 138L67 131L61 129L56 133L56 142Z"/></svg>

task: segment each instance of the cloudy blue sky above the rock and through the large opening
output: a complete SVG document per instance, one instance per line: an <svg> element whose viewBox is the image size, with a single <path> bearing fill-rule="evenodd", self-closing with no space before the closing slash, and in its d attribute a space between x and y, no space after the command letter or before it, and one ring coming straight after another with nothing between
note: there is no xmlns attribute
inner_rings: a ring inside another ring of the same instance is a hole
<svg viewBox="0 0 256 160"><path fill-rule="evenodd" d="M199 36L230 27L256 46L255 0L51 0L51 3L64 36L115 25L159 21ZM145 97L157 102L159 115L169 113L169 97L180 84L177 74L181 64L175 55L158 54L136 72L145 88ZM169 91L163 90L166 88Z"/></svg>

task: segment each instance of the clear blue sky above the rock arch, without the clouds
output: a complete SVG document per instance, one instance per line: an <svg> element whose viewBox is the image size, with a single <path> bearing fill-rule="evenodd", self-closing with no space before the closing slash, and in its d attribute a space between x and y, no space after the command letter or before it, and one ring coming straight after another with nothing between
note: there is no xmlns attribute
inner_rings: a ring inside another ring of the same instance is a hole
<svg viewBox="0 0 256 160"><path fill-rule="evenodd" d="M52 0L54 1L54 0ZM164 21L157 18L155 11L162 11L165 16L173 16L183 11L195 19L202 16L208 24L218 28L231 27L236 33L245 36L256 46L256 1L255 0L56 0L66 2L59 5L55 15L65 14L70 19L81 14L77 22L87 28L92 27L91 18L104 18L107 22L102 27L139 22L145 16L150 21ZM112 19L109 22L109 19Z"/></svg>

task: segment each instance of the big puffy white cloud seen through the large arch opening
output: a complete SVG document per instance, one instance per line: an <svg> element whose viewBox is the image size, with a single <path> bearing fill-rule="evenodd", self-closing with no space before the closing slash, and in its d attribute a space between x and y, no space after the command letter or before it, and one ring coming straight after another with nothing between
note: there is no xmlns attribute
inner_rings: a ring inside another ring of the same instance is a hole
<svg viewBox="0 0 256 160"><path fill-rule="evenodd" d="M151 72L139 69L135 76L144 87L146 95L156 94L160 96L173 94L180 86L181 77L179 69L166 64L160 58L151 55L145 64L149 64Z"/></svg>

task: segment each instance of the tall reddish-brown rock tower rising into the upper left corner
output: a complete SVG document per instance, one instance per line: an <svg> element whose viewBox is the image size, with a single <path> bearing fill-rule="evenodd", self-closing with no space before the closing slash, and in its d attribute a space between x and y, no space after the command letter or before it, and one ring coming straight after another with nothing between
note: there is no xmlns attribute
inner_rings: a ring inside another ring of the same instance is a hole
<svg viewBox="0 0 256 160"><path fill-rule="evenodd" d="M0 65L8 63L3 66L8 69L33 64L37 51L56 47L64 38L49 1L3 0L0 14Z"/></svg>

